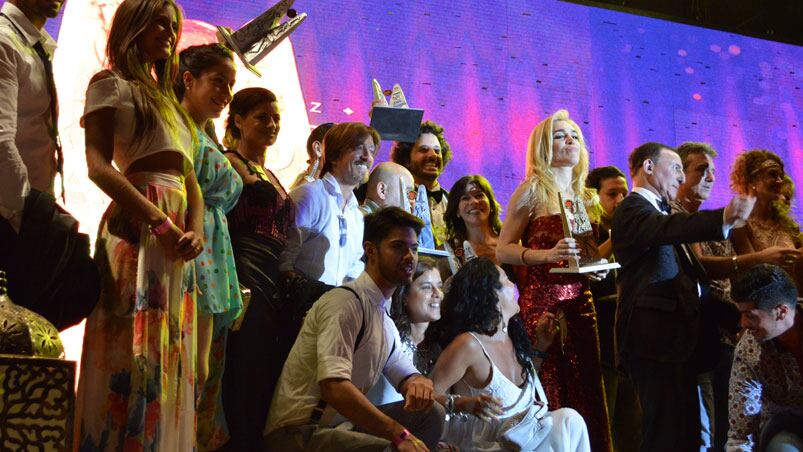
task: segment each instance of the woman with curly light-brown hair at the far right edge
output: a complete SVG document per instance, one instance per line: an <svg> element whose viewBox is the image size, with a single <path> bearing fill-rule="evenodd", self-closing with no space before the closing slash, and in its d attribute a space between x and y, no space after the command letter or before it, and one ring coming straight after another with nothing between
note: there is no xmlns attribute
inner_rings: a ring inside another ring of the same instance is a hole
<svg viewBox="0 0 803 452"><path fill-rule="evenodd" d="M731 189L742 195L756 197L756 204L747 225L734 229L731 241L739 255L761 251L773 246L797 249L801 243L800 227L789 217L788 211L773 208L783 201L786 173L781 158L774 152L754 149L740 154L731 169ZM790 180L791 182L791 180ZM789 253L782 267L803 289L803 265L796 255Z"/></svg>

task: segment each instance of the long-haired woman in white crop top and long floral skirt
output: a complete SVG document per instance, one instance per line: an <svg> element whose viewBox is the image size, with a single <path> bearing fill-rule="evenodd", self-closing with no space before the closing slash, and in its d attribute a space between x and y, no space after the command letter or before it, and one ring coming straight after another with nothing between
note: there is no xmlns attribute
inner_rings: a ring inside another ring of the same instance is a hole
<svg viewBox="0 0 803 452"><path fill-rule="evenodd" d="M186 262L203 247L204 206L192 119L172 89L180 30L172 0L125 0L109 34L109 70L87 89L89 177L112 204L95 252L101 298L84 335L80 450L195 447L196 313Z"/></svg>

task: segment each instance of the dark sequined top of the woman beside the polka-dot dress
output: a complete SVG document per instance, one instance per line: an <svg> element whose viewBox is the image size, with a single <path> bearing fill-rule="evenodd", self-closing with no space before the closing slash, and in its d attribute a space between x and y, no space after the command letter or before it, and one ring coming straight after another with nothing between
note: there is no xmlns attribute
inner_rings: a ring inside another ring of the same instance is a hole
<svg viewBox="0 0 803 452"><path fill-rule="evenodd" d="M235 154L248 166L249 172L260 179L243 187L239 202L228 214L232 242L243 235L256 234L284 245L287 242L287 230L295 218L293 200L281 185L277 188L270 182L265 172L270 170L256 167L237 151L229 150L226 153Z"/></svg>

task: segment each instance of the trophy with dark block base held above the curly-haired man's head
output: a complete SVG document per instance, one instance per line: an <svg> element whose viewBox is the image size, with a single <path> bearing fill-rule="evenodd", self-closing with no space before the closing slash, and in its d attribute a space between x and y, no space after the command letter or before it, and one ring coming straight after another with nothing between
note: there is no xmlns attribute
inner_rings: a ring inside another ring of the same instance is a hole
<svg viewBox="0 0 803 452"><path fill-rule="evenodd" d="M371 127L376 129L385 141L414 143L418 139L424 110L409 107L398 83L393 85L393 90L390 92L382 91L376 79L373 79L371 86L374 93ZM388 94L390 104L385 97Z"/></svg>

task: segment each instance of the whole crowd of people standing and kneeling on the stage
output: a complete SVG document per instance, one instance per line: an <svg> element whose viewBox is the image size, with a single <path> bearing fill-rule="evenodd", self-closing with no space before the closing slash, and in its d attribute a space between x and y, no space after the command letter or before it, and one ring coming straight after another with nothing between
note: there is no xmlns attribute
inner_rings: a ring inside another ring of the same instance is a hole
<svg viewBox="0 0 803 452"><path fill-rule="evenodd" d="M0 10L10 279L63 165L42 28L60 5ZM701 209L710 145L638 146L629 188L560 110L503 223L485 177L440 185L435 122L380 163L376 130L328 123L287 191L276 96L232 93L232 51L178 52L181 26L173 0L124 0L87 88L88 175L112 203L99 296L78 303L75 450L803 450L803 236L778 155L742 152L733 198ZM449 259L419 256L421 185ZM550 271L570 261L621 267Z"/></svg>

